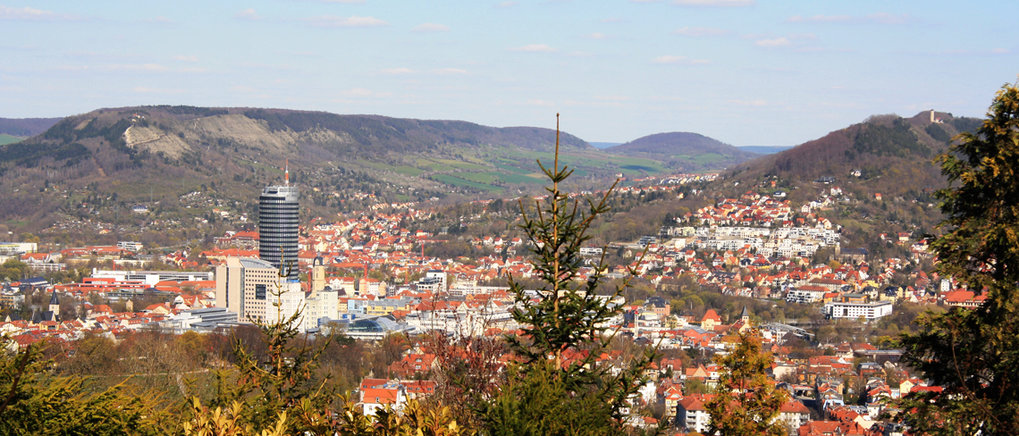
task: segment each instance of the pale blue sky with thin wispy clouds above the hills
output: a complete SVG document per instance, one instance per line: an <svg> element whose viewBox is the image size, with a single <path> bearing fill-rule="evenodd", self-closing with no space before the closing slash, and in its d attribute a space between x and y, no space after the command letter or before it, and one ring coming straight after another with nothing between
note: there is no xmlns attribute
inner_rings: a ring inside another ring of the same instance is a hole
<svg viewBox="0 0 1019 436"><path fill-rule="evenodd" d="M0 117L153 104L797 145L869 115L982 116L1016 1L0 0Z"/></svg>

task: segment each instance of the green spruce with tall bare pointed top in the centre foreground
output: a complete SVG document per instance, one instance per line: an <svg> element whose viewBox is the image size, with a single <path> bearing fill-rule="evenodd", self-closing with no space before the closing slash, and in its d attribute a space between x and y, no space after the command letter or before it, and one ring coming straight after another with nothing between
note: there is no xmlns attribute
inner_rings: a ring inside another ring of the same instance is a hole
<svg viewBox="0 0 1019 436"><path fill-rule="evenodd" d="M583 280L580 249L590 240L592 221L608 210L614 184L600 200L583 203L560 190L573 170L559 163L558 125L552 166L538 165L550 182L547 195L530 211L521 201L521 214L542 287L529 292L508 277L512 315L523 334L507 337L518 361L484 404L482 420L490 434L619 434L653 352L622 368L597 362L614 336L607 324L622 310L613 299L629 280L599 295L607 266L602 258Z"/></svg>

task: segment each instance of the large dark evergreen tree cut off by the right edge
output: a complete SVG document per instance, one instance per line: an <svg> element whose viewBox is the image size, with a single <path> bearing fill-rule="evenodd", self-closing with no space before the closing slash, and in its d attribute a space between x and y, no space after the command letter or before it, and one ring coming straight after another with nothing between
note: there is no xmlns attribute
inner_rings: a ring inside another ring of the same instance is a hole
<svg viewBox="0 0 1019 436"><path fill-rule="evenodd" d="M902 337L903 361L941 392L900 402L921 434L1015 434L1019 429L1019 87L998 92L980 127L938 158L938 271L986 299L918 320Z"/></svg>

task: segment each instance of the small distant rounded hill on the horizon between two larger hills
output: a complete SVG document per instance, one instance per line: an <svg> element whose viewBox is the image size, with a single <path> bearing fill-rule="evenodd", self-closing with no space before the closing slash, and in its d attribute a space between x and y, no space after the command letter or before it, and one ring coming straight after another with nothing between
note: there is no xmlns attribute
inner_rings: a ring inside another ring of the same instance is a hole
<svg viewBox="0 0 1019 436"><path fill-rule="evenodd" d="M655 133L609 147L605 151L654 159L686 171L728 167L758 156L703 134L687 131Z"/></svg>

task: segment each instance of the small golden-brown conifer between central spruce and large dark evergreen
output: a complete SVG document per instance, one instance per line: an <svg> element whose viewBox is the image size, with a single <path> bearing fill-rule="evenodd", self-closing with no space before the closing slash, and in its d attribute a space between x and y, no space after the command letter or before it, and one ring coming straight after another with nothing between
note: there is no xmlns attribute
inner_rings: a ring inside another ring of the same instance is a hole
<svg viewBox="0 0 1019 436"><path fill-rule="evenodd" d="M779 410L788 399L786 391L775 388L767 376L771 353L761 350L755 330L738 333L736 347L728 355L715 356L721 366L718 386L705 405L711 414L709 434L722 436L774 435L788 433L786 423L777 420Z"/></svg>

